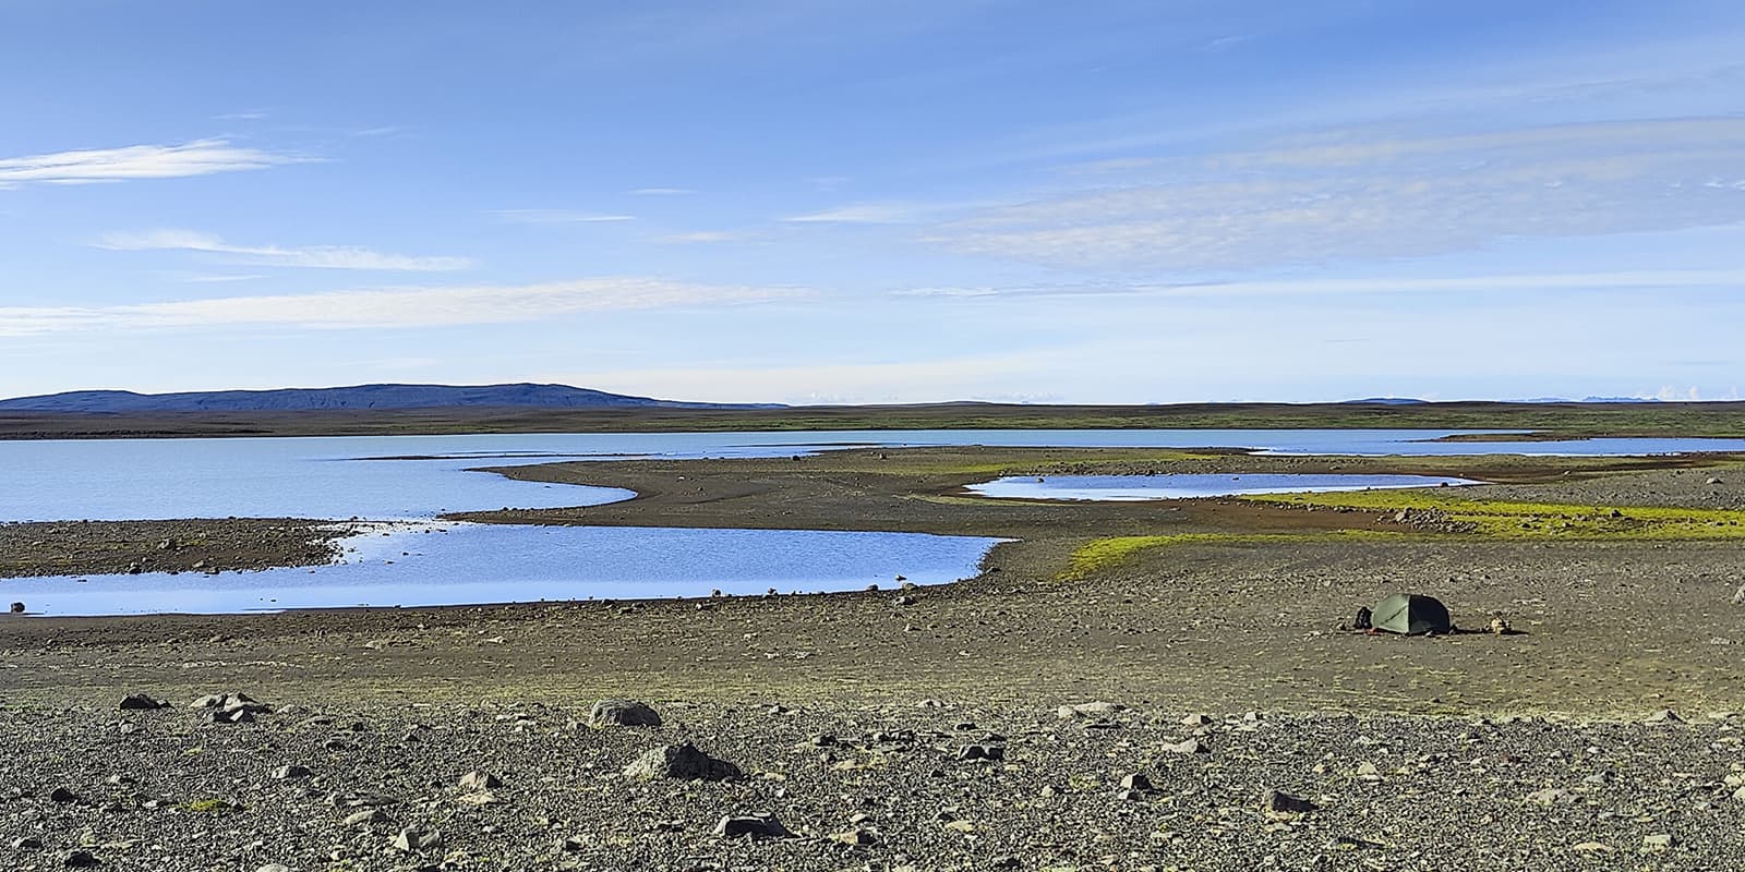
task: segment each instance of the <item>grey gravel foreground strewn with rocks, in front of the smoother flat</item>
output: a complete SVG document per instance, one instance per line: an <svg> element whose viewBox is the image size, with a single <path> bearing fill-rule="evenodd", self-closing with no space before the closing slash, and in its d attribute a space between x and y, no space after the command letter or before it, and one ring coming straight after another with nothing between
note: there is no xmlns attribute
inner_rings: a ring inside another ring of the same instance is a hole
<svg viewBox="0 0 1745 872"><path fill-rule="evenodd" d="M0 708L0 869L1745 869L1745 720L1726 712L270 691Z"/></svg>

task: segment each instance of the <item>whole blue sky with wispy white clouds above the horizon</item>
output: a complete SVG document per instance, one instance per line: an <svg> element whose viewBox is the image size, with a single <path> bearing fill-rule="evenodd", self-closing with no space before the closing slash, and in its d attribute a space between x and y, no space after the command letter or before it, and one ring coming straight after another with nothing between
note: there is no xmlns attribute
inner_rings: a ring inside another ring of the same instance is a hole
<svg viewBox="0 0 1745 872"><path fill-rule="evenodd" d="M1738 398L1736 0L0 0L0 396Z"/></svg>

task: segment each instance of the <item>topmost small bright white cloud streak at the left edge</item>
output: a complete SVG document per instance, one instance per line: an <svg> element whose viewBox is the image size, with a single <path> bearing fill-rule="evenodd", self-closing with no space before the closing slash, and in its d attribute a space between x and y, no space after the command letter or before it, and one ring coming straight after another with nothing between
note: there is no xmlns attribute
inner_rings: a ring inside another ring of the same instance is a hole
<svg viewBox="0 0 1745 872"><path fill-rule="evenodd" d="M0 159L0 185L47 183L87 185L140 178L209 176L284 164L319 160L304 155L241 148L229 140L195 140L187 145L129 145Z"/></svg>

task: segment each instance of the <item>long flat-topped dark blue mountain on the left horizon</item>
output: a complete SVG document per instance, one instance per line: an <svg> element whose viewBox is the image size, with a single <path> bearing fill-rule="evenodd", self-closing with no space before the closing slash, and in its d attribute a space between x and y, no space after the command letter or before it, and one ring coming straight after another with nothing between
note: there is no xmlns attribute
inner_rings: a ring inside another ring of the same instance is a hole
<svg viewBox="0 0 1745 872"><path fill-rule="evenodd" d="M318 412L394 408L782 408L780 403L682 403L562 384L365 384L277 391L68 391L0 399L0 412Z"/></svg>

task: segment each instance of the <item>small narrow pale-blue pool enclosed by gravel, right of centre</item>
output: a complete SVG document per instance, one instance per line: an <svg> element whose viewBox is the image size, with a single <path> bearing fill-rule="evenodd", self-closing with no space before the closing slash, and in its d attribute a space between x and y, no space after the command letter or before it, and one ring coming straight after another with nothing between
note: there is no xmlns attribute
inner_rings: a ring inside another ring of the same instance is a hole
<svg viewBox="0 0 1745 872"><path fill-rule="evenodd" d="M1160 474L1160 476L1009 476L967 490L1002 499L1138 502L1153 499L1235 497L1370 488L1478 485L1468 478L1372 474Z"/></svg>

